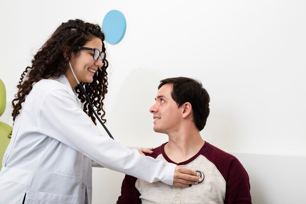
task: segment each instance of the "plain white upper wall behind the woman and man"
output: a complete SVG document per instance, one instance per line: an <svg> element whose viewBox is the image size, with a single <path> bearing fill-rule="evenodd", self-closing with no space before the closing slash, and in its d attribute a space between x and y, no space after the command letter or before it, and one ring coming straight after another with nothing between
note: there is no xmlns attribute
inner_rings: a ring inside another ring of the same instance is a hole
<svg viewBox="0 0 306 204"><path fill-rule="evenodd" d="M123 40L107 45L107 126L117 141L165 142L152 131L148 110L159 80L187 76L211 96L206 141L228 152L306 156L304 0L5 0L0 78L8 107L1 121L12 124L20 75L55 28L75 18L101 24L111 9L127 20ZM94 179L103 171L94 170ZM102 189L95 187L99 203Z"/></svg>

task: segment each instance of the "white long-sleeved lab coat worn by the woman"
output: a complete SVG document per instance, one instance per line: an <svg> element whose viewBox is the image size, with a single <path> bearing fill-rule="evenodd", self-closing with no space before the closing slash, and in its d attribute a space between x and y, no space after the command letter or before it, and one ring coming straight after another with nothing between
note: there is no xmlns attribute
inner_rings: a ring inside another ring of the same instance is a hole
<svg viewBox="0 0 306 204"><path fill-rule="evenodd" d="M91 204L91 159L144 181L173 184L174 164L98 131L65 75L41 80L15 120L0 172L0 204L22 204L25 193L25 204Z"/></svg>

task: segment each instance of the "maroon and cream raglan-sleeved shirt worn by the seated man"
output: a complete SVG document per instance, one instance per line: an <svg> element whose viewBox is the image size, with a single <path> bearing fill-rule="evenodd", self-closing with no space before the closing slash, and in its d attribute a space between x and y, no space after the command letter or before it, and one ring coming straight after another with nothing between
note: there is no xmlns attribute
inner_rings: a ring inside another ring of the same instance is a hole
<svg viewBox="0 0 306 204"><path fill-rule="evenodd" d="M147 156L175 163L165 154L165 144L153 149L154 153ZM204 181L180 188L160 181L147 183L126 175L117 204L141 204L142 201L160 204L251 204L249 177L233 155L205 142L195 156L175 164L203 172Z"/></svg>

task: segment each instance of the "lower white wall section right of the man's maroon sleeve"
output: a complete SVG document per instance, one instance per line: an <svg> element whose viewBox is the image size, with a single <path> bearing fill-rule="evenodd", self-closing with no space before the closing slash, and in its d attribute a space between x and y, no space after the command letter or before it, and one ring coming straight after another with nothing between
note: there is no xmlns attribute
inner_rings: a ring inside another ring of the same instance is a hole
<svg viewBox="0 0 306 204"><path fill-rule="evenodd" d="M305 204L306 157L233 155L248 172L253 204Z"/></svg>

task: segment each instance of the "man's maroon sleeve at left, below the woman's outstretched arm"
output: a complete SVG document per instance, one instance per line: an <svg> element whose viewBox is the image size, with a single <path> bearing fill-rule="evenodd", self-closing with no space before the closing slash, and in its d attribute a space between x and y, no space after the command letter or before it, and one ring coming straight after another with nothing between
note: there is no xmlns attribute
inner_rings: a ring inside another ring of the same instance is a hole
<svg viewBox="0 0 306 204"><path fill-rule="evenodd" d="M141 204L140 193L135 187L137 178L126 175L121 185L121 196L116 204Z"/></svg>

